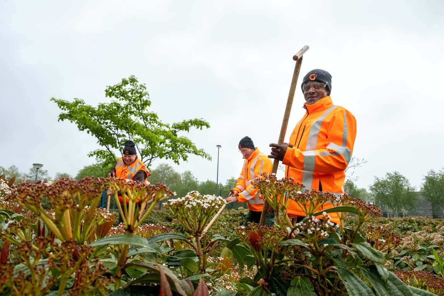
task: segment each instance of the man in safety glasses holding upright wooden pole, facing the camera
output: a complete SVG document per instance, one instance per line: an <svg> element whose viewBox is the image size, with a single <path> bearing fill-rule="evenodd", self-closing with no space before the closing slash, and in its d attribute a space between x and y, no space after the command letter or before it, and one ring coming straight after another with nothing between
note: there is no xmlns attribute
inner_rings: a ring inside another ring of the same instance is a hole
<svg viewBox="0 0 444 296"><path fill-rule="evenodd" d="M305 115L290 135L289 143L270 144L270 158L285 165L285 177L305 186L306 190L344 193L345 169L352 157L356 138L356 119L348 110L333 105L330 97L331 75L315 69L302 81L306 103ZM331 208L325 203L322 209ZM320 209L321 210L321 209ZM287 209L290 217L305 217L295 201ZM329 214L331 221L339 223L336 213Z"/></svg>

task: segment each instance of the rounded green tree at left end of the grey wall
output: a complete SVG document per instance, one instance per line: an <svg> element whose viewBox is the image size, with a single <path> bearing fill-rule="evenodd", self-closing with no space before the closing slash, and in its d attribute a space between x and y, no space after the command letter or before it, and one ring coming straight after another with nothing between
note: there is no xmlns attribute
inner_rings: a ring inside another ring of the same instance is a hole
<svg viewBox="0 0 444 296"><path fill-rule="evenodd" d="M374 178L370 193L378 205L385 205L397 214L402 209L412 209L417 200L415 187L399 172L386 173L385 178Z"/></svg>

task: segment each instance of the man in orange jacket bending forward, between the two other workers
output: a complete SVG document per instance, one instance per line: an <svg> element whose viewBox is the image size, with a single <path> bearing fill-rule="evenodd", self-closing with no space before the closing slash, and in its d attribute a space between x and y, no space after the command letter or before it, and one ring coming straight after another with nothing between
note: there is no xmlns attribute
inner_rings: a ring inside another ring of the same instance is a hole
<svg viewBox="0 0 444 296"><path fill-rule="evenodd" d="M244 224L247 226L248 222L259 223L265 201L265 198L259 194L259 189L251 185L251 181L254 178L260 177L262 173L270 174L273 165L266 154L254 147L250 137L242 138L238 147L242 157L245 159L244 165L236 187L231 190L230 195L226 198L226 202L237 201L247 203L249 211ZM267 215L265 224L274 225L274 213Z"/></svg>

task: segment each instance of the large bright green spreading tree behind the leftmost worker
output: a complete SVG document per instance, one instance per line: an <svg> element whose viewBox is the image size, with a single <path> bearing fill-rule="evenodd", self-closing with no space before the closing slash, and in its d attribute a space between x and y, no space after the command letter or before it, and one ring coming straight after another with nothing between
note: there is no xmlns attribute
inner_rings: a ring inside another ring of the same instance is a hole
<svg viewBox="0 0 444 296"><path fill-rule="evenodd" d="M107 164L117 162L115 150L121 153L126 140L136 144L142 162L148 167L156 159L171 159L179 164L186 161L189 154L211 159L204 150L198 149L190 139L179 136L191 128L209 128L210 124L203 119L188 119L182 122L166 124L158 115L148 109L151 99L147 87L139 83L132 75L122 79L121 83L108 86L105 96L111 103L100 103L97 107L87 105L81 99L68 102L52 98L63 111L59 121L75 122L79 130L85 130L97 138L103 149L90 152Z"/></svg>

